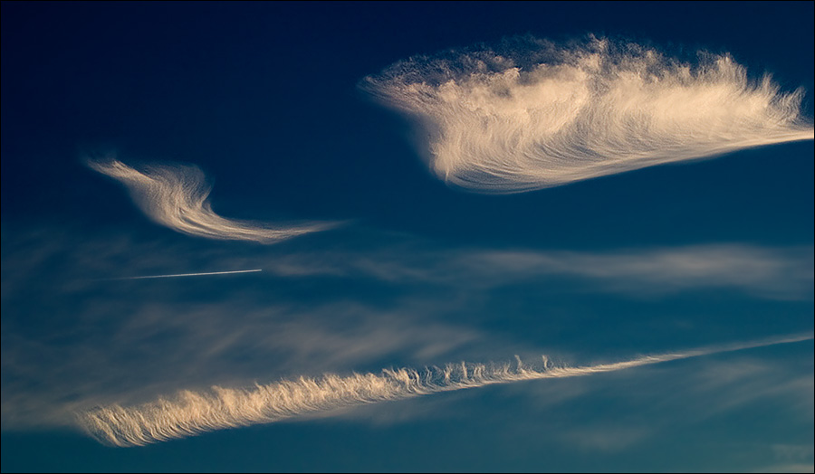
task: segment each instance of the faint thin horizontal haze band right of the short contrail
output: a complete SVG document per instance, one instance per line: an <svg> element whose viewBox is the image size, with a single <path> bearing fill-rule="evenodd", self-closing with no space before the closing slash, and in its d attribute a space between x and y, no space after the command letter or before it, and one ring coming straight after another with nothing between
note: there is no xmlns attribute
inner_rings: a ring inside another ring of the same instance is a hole
<svg viewBox="0 0 815 474"><path fill-rule="evenodd" d="M609 251L466 250L390 245L366 251L292 252L263 260L268 273L364 277L393 284L489 289L570 279L576 290L652 296L738 289L762 299L811 297L812 247L711 243Z"/></svg>

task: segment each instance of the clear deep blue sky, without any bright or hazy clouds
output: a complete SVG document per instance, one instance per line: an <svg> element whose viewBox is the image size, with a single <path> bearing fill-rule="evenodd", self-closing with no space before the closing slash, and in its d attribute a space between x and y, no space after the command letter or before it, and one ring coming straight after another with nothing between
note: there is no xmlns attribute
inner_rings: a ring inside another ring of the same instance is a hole
<svg viewBox="0 0 815 474"><path fill-rule="evenodd" d="M730 52L755 78L769 71L783 90L803 87L804 114L811 118L812 18L811 2L4 2L4 286L11 285L9 275L26 261L26 252L35 254L51 239L77 248L87 242L135 242L123 245L123 261L164 255L161 249L171 246L181 249L174 254L177 265L156 268L177 273L210 270L211 255L260 251L242 243L201 242L149 223L120 186L83 166L82 156L110 150L136 162L201 166L214 179L214 209L225 216L353 221L350 229L283 242L268 250L269 258L390 248L391 240L439 254L717 243L811 248L811 141L532 193L481 195L452 189L431 175L411 145L408 122L374 104L357 83L419 53L494 43L514 34L569 40L595 33L651 42L677 54ZM27 237L31 229L40 232L36 238ZM59 265L69 263L57 259L37 268L53 265L62 269L55 273L65 275L70 272ZM173 308L191 308L189 301L206 306L246 298L266 305L284 300L290 308L353 301L388 311L398 311L415 295L427 305L447 299L451 306L434 313L434 320L494 337L488 347L474 342L461 353L484 358L511 358L513 351L542 347L560 351L567 360L590 362L812 328L811 285L802 298L780 299L738 289L632 298L559 285L569 282L549 281L545 288L536 282L508 284L489 296L364 278L178 280L112 285L71 298L52 298L39 293L39 287L15 290L13 296L4 289L4 349L14 344L12 334L35 338L44 327L52 332L62 324L74 327L60 320L63 313L78 314L80 309L72 308L126 299ZM38 301L28 306L24 299ZM545 323L541 314L549 315ZM241 324L239 314L232 318ZM88 328L72 331L63 339L48 338L48 344L70 346L91 337ZM494 342L507 340L516 346ZM160 352L160 341L156 344ZM263 361L244 356L252 360L251 368L236 379L298 374L299 367L267 374ZM232 362L238 364L240 357ZM383 357L325 367L362 371L382 364L449 361L402 353ZM5 430L2 469L633 471L811 465L811 403L809 412L791 414L785 410L798 405L789 394L770 393L704 416L693 410L730 395L710 387L681 392L686 384L678 381L711 366L733 365L753 367L757 372L746 374L769 378L759 384L744 375L727 390L756 393L768 383L802 384L804 404L811 400L809 341L636 374L546 382L545 387L487 387L436 395L441 399L436 402L386 403L353 416L219 431L143 449L110 449L70 431ZM319 374L322 365L312 366ZM190 380L207 383L196 377ZM49 379L43 376L42 384ZM5 400L8 386L4 379ZM667 396L676 391L683 396ZM580 396L547 402L557 399L556 393ZM392 412L405 414L400 418ZM590 432L601 429L611 433L606 438L628 442L580 442L594 439ZM807 445L809 450L794 448Z"/></svg>

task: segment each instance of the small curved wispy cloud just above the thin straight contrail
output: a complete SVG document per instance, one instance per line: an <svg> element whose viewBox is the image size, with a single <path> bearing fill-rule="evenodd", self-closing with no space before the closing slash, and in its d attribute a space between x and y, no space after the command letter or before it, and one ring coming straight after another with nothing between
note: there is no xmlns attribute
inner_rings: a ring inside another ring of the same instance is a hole
<svg viewBox="0 0 815 474"><path fill-rule="evenodd" d="M225 219L209 204L211 188L197 166L149 166L139 171L116 159L88 166L128 187L142 212L174 231L225 241L280 242L330 229L335 223L266 224Z"/></svg>

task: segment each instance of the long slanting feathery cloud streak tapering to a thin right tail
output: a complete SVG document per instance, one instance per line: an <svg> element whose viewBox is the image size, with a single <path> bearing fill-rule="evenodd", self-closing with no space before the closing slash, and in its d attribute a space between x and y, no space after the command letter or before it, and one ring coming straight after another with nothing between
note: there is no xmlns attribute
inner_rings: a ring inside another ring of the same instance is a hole
<svg viewBox="0 0 815 474"><path fill-rule="evenodd" d="M142 446L204 431L276 422L309 412L400 400L430 393L450 392L489 384L601 374L690 357L753 347L799 342L812 335L780 337L743 344L714 346L681 353L642 356L613 364L579 367L555 366L546 356L542 366L459 364L424 370L384 369L381 374L325 374L301 377L253 388L214 386L211 392L184 391L172 399L122 407L118 404L82 412L79 422L96 440L113 446Z"/></svg>

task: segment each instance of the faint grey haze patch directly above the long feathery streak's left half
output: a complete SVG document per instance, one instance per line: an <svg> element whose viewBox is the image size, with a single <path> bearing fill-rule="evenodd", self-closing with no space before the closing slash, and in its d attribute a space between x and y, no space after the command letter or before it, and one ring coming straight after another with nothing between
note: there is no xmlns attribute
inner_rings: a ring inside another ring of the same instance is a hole
<svg viewBox="0 0 815 474"><path fill-rule="evenodd" d="M79 314L57 309L62 320L42 334L4 323L3 428L70 426L73 412L94 405L245 384L257 374L321 374L404 359L426 364L484 342L479 330L409 309L143 301L139 293L70 308Z"/></svg>

